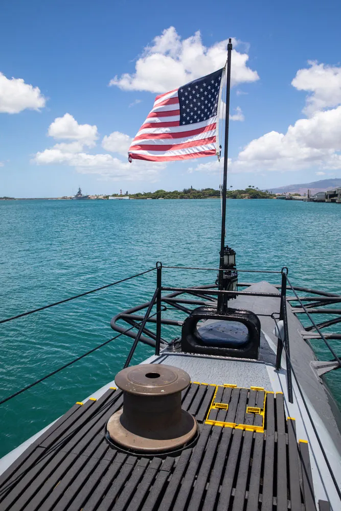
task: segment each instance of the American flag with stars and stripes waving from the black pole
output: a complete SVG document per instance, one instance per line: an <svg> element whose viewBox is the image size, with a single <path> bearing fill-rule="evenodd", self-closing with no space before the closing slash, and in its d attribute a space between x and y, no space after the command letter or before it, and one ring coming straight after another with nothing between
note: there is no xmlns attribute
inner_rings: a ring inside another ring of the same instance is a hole
<svg viewBox="0 0 341 511"><path fill-rule="evenodd" d="M223 69L156 96L128 159L170 161L212 156L217 147Z"/></svg>

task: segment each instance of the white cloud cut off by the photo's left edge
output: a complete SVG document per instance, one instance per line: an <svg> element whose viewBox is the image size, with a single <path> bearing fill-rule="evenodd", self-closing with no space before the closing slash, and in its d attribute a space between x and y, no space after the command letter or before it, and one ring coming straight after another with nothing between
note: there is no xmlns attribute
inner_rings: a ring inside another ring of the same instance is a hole
<svg viewBox="0 0 341 511"><path fill-rule="evenodd" d="M39 87L25 83L22 78L7 78L0 73L0 112L19 113L22 110L39 110L46 104Z"/></svg>

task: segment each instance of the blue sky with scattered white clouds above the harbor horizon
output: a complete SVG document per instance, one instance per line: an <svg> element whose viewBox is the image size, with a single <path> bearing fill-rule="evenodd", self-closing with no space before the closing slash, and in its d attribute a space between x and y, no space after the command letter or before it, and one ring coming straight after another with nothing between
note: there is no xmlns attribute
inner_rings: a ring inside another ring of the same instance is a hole
<svg viewBox="0 0 341 511"><path fill-rule="evenodd" d="M228 37L236 40L229 183L341 176L340 16L337 1L3 3L0 196L71 195L79 185L85 193L217 188L213 157L130 165L125 152L157 92L201 67L214 71Z"/></svg>

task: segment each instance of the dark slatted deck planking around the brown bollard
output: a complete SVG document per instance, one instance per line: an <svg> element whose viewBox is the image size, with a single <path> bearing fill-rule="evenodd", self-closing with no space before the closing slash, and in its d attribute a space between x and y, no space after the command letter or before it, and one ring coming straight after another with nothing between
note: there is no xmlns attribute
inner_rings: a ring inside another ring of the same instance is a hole
<svg viewBox="0 0 341 511"><path fill-rule="evenodd" d="M111 449L104 425L122 406L109 389L98 401L74 405L0 477L1 511L264 511L315 508L308 444L285 420L283 394L218 387L210 419L244 429L205 424L216 387L192 383L183 407L197 419L196 445L174 456L127 455ZM288 474L288 477L287 477ZM320 509L329 504L319 502Z"/></svg>

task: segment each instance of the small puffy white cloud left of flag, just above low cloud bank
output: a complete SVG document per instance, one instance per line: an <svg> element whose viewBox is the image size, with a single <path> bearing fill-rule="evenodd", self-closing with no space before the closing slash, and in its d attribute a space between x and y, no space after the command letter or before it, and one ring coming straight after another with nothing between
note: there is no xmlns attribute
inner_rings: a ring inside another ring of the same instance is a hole
<svg viewBox="0 0 341 511"><path fill-rule="evenodd" d="M79 141L89 147L94 146L98 138L97 126L78 124L70 113L57 117L50 124L48 134L53 138Z"/></svg>

